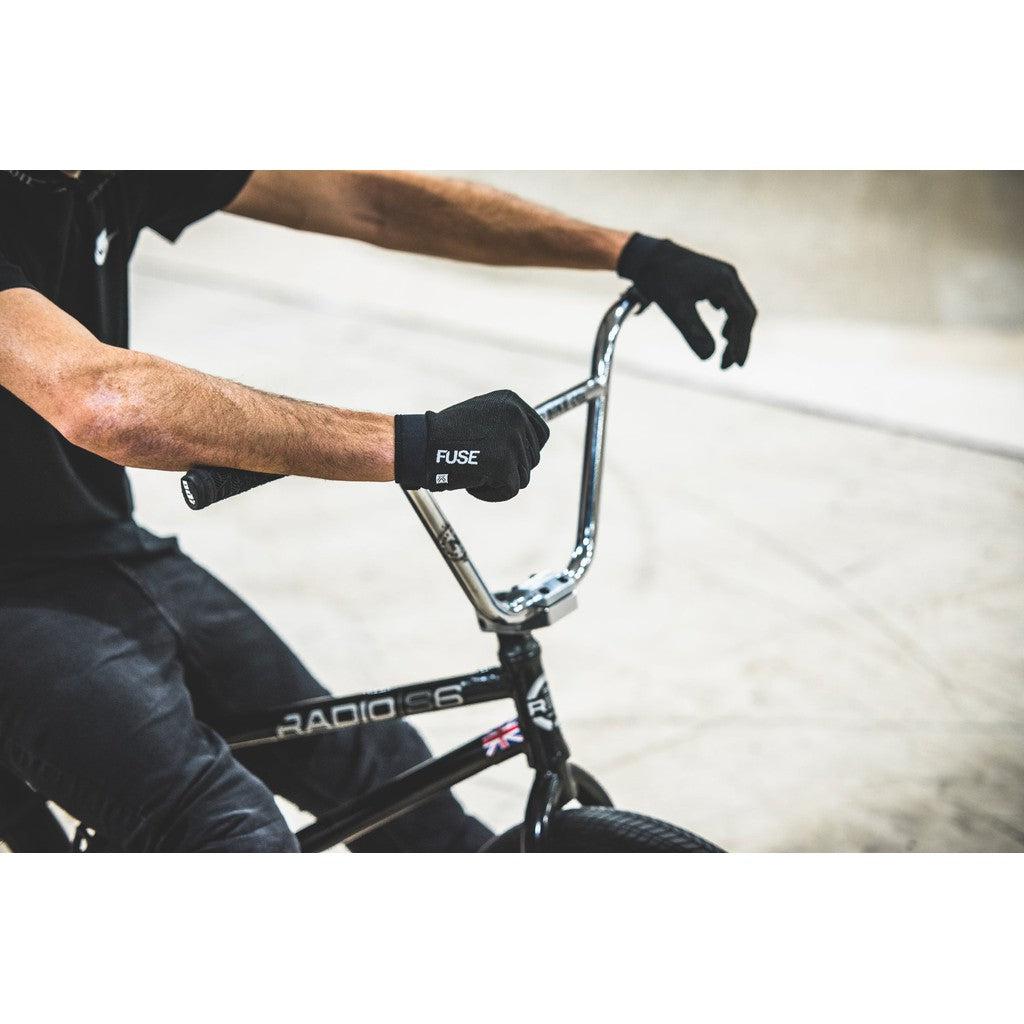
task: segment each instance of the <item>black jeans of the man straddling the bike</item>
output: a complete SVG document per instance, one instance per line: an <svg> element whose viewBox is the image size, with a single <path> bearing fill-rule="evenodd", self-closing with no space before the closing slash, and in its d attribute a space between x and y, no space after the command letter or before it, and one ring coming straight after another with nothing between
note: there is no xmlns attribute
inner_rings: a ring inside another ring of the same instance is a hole
<svg viewBox="0 0 1024 1024"><path fill-rule="evenodd" d="M321 814L429 757L406 722L238 755L208 724L326 692L180 552L0 584L0 765L118 848L293 851L272 793ZM489 836L444 794L352 849L476 850Z"/></svg>

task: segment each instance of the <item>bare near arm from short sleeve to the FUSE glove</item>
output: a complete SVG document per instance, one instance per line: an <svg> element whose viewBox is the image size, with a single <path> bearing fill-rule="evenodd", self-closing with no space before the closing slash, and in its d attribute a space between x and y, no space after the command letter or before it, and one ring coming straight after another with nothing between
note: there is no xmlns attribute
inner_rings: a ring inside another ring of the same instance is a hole
<svg viewBox="0 0 1024 1024"><path fill-rule="evenodd" d="M123 466L394 479L392 417L267 394L103 345L31 289L0 292L0 387L72 443Z"/></svg>

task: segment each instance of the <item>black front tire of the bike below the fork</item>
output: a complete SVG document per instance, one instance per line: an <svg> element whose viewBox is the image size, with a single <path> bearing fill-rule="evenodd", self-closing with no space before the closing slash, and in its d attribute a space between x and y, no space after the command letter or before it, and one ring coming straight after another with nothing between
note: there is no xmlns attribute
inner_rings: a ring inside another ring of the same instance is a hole
<svg viewBox="0 0 1024 1024"><path fill-rule="evenodd" d="M486 853L518 853L522 825L493 839ZM724 853L685 828L613 807L581 807L551 817L546 853Z"/></svg>

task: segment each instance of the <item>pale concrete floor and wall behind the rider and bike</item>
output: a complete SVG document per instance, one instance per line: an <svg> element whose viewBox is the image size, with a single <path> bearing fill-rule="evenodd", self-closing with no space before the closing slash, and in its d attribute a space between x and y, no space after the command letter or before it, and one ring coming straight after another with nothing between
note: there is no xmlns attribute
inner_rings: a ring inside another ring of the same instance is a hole
<svg viewBox="0 0 1024 1024"><path fill-rule="evenodd" d="M748 367L656 310L624 332L601 541L539 636L581 764L620 806L734 850L1024 849L1024 253L1014 175L476 175L729 258ZM607 274L492 270L226 215L140 245L136 347L275 391L419 411L584 376ZM382 372L386 371L386 372ZM445 507L484 577L553 567L581 414L535 482ZM331 689L493 664L393 486L288 480L140 519L245 595ZM437 748L503 706L421 717ZM514 762L460 787L520 814Z"/></svg>

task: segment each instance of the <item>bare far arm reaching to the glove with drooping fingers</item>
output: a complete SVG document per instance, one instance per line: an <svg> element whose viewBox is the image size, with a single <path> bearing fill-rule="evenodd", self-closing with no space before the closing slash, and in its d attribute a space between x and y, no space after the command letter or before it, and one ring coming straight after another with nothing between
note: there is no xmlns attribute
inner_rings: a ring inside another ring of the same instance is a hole
<svg viewBox="0 0 1024 1024"><path fill-rule="evenodd" d="M234 213L385 249L504 266L614 269L629 239L487 185L404 171L262 171Z"/></svg>

